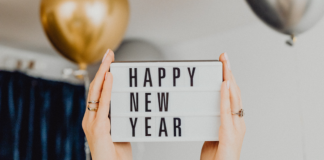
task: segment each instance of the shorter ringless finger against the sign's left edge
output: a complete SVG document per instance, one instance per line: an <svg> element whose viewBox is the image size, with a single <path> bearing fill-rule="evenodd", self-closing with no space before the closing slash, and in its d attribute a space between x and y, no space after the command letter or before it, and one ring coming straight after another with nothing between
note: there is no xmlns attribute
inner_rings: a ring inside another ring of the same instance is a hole
<svg viewBox="0 0 324 160"><path fill-rule="evenodd" d="M101 92L101 98L97 112L97 119L108 119L112 84L113 76L110 72L106 72L105 82Z"/></svg>

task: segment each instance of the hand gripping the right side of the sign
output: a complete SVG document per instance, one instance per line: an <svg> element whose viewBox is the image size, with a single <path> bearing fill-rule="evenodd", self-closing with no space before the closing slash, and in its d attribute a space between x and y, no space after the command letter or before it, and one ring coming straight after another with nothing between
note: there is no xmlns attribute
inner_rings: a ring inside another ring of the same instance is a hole
<svg viewBox="0 0 324 160"><path fill-rule="evenodd" d="M242 109L241 91L230 69L226 53L220 55L223 62L224 82L221 88L221 126L219 142L205 142L201 160L239 160L245 134L243 117L232 115Z"/></svg>

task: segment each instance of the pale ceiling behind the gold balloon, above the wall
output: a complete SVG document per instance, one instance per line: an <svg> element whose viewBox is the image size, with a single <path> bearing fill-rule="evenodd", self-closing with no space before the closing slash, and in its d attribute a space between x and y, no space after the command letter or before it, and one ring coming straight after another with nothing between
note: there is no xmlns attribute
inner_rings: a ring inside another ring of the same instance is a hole
<svg viewBox="0 0 324 160"><path fill-rule="evenodd" d="M157 47L259 22L243 0L132 0L125 39ZM0 0L0 44L57 55L42 30L40 0Z"/></svg>

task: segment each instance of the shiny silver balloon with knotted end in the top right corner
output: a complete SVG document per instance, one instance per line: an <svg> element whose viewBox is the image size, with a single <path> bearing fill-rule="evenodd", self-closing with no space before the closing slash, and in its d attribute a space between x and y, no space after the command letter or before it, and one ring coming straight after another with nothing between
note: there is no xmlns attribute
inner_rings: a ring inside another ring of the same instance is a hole
<svg viewBox="0 0 324 160"><path fill-rule="evenodd" d="M295 36L308 30L324 14L324 0L246 0L254 13L275 30Z"/></svg>

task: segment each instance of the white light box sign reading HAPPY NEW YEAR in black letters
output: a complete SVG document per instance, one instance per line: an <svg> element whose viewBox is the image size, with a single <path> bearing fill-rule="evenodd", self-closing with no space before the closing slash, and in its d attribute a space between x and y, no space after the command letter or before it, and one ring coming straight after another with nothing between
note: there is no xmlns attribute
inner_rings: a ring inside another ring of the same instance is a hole
<svg viewBox="0 0 324 160"><path fill-rule="evenodd" d="M219 61L114 62L114 142L217 141Z"/></svg>

